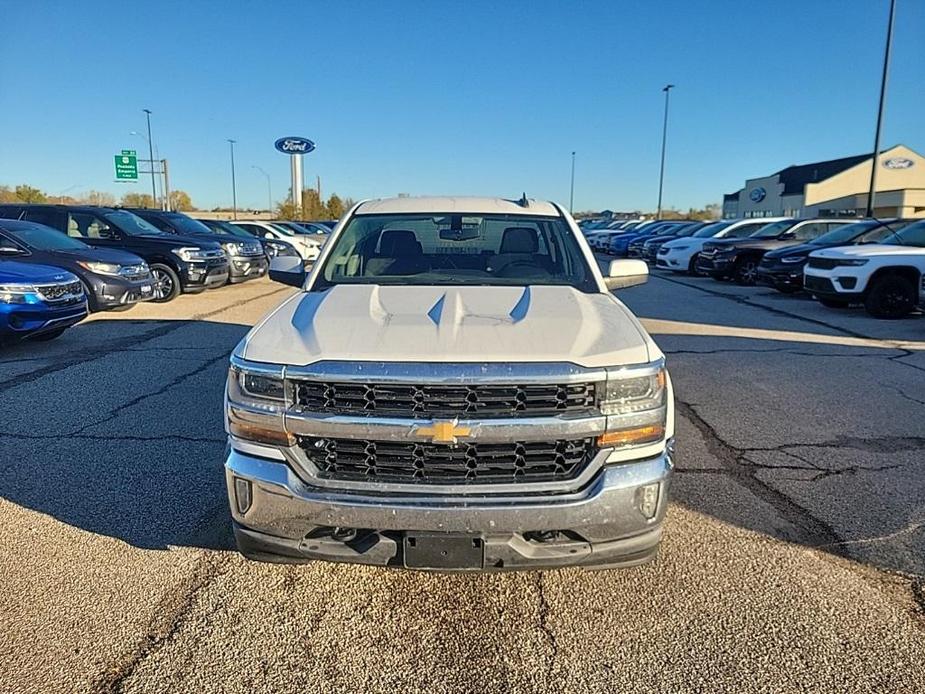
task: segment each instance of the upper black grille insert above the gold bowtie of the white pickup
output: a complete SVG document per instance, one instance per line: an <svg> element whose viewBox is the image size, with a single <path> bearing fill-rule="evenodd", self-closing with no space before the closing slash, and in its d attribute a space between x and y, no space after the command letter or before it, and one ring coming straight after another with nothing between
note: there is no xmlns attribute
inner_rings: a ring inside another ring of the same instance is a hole
<svg viewBox="0 0 925 694"><path fill-rule="evenodd" d="M310 412L395 417L532 417L587 410L593 383L563 385L396 385L295 382Z"/></svg>

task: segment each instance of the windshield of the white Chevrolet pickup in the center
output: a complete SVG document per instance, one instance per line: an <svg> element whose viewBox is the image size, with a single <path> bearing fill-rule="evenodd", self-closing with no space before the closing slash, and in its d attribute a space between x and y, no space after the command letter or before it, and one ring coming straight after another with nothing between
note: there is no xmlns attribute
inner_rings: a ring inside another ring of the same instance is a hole
<svg viewBox="0 0 925 694"><path fill-rule="evenodd" d="M335 284L569 285L597 291L563 219L462 213L353 217L315 288Z"/></svg>

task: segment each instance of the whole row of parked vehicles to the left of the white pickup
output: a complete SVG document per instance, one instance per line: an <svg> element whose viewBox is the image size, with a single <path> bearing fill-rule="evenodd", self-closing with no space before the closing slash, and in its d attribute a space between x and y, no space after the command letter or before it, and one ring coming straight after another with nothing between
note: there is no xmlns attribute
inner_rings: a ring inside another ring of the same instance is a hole
<svg viewBox="0 0 925 694"><path fill-rule="evenodd" d="M0 205L0 342L50 340L88 312L127 310L263 277L272 257L310 264L335 224Z"/></svg>

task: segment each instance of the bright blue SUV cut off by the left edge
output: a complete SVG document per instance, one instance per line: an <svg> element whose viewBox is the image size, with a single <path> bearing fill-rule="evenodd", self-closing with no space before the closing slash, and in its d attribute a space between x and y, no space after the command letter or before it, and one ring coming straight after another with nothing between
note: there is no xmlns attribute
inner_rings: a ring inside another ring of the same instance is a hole
<svg viewBox="0 0 925 694"><path fill-rule="evenodd" d="M0 260L0 343L53 340L87 317L87 297L67 270Z"/></svg>

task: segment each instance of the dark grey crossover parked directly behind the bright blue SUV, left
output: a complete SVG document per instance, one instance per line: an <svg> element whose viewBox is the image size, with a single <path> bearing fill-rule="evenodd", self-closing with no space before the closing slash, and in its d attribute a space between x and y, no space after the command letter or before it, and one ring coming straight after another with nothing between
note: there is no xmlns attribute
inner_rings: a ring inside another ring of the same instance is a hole
<svg viewBox="0 0 925 694"><path fill-rule="evenodd" d="M0 259L73 272L84 285L91 311L129 309L154 298L151 273L137 255L93 248L35 222L0 219Z"/></svg>

